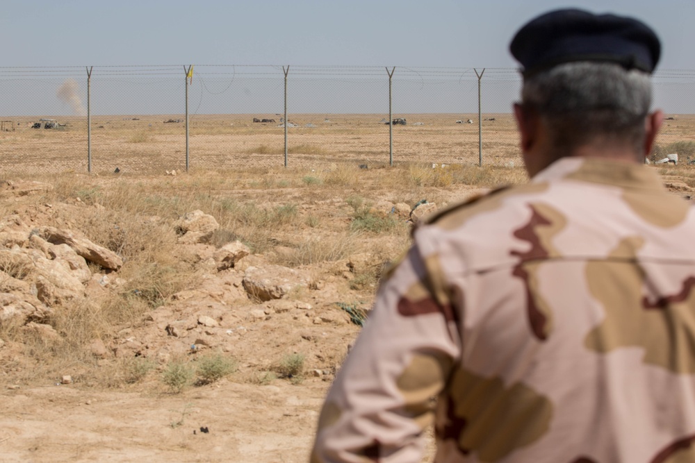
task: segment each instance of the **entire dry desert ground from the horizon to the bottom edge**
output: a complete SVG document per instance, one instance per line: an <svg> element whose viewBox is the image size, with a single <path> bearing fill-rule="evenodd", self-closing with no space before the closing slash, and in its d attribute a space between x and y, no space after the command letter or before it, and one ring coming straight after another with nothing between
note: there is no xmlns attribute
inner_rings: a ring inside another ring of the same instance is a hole
<svg viewBox="0 0 695 463"><path fill-rule="evenodd" d="M308 461L414 221L527 181L510 115L482 167L477 115L397 117L393 167L380 115L290 117L288 167L276 115L194 117L186 172L180 115L95 116L91 173L85 118L4 117L0 462ZM650 168L691 201L669 117L651 158L679 163Z"/></svg>

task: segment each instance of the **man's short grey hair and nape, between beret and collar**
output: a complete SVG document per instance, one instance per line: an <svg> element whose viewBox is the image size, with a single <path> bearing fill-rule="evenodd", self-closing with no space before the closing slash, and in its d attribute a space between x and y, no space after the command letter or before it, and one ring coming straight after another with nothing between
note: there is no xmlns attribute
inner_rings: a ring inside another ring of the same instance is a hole
<svg viewBox="0 0 695 463"><path fill-rule="evenodd" d="M523 106L548 125L558 155L596 139L627 142L636 155L646 154L651 81L642 71L603 62L566 63L525 79L521 96Z"/></svg>

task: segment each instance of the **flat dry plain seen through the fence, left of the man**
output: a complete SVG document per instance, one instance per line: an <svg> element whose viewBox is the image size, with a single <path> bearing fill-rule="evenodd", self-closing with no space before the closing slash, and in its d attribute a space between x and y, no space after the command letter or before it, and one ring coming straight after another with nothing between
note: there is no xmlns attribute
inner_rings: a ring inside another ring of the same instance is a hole
<svg viewBox="0 0 695 463"><path fill-rule="evenodd" d="M284 128L254 123L253 117L192 117L189 169L283 166ZM279 116L268 117L279 121ZM477 115L398 117L404 117L407 125L393 126L393 162L477 164ZM467 124L468 119L475 122ZM87 171L86 118L58 118L65 126L56 129L31 128L37 120L15 118L15 131L0 133L0 168L44 174ZM168 120L183 119L181 115L92 117L92 172L110 173L115 167L138 173L186 169L185 124L165 123ZM295 115L289 120L296 127L288 128L288 166L320 167L341 161L388 165L391 160L389 125L383 124L382 115ZM484 115L482 131L486 164L518 162L511 115Z"/></svg>

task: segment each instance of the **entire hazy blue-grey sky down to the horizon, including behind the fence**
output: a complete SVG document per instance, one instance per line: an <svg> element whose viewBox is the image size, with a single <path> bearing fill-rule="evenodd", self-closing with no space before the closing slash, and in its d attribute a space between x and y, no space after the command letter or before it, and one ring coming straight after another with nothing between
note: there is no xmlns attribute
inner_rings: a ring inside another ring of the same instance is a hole
<svg viewBox="0 0 695 463"><path fill-rule="evenodd" d="M182 65L195 65L190 102L199 114L281 112L284 65L293 66L290 112L387 112L383 67L392 66L396 112L475 111L471 68L486 68L484 111L507 112L519 87L509 40L561 7L650 24L662 39L659 69L671 70L655 75L655 104L695 112L695 0L0 2L3 115L83 115L87 66L92 114L180 113ZM331 76L318 77L329 67Z"/></svg>

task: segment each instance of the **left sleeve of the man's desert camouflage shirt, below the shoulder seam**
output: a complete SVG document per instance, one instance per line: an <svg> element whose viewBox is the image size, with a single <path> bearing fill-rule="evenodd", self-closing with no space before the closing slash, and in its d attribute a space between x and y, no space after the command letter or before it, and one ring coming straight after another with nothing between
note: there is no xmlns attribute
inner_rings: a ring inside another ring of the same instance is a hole
<svg viewBox="0 0 695 463"><path fill-rule="evenodd" d="M311 463L420 462L434 397L459 357L457 326L439 259L415 244L329 390Z"/></svg>

